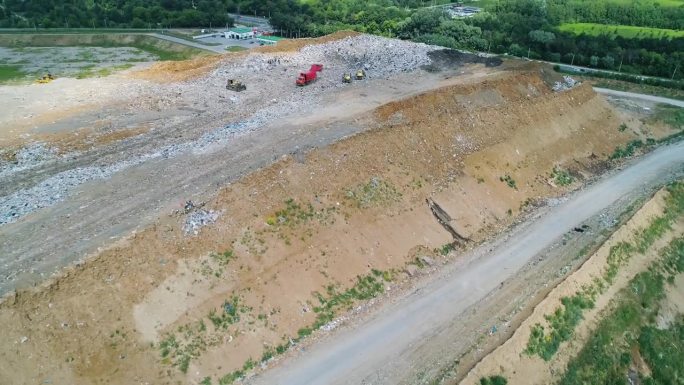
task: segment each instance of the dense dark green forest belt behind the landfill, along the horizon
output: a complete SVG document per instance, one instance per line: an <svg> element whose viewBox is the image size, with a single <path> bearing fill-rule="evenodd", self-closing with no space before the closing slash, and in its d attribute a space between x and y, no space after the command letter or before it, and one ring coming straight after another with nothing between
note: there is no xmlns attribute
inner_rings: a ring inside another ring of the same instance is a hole
<svg viewBox="0 0 684 385"><path fill-rule="evenodd" d="M227 12L270 18L286 37L341 29L452 48L683 79L684 38L576 34L564 23L684 29L684 1L499 0L452 19L421 0L0 0L0 27L197 27L231 24ZM607 31L609 31L607 29Z"/></svg>

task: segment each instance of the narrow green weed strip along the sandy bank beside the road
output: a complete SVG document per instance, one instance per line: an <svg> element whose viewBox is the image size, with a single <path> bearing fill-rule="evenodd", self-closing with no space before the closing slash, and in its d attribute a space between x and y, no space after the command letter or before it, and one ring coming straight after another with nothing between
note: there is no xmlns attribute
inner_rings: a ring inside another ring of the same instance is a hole
<svg viewBox="0 0 684 385"><path fill-rule="evenodd" d="M561 343L569 341L575 327L582 321L583 313L594 307L596 297L613 284L619 269L635 253L645 253L658 239L672 228L672 223L684 213L684 182L668 186L670 195L666 198L665 213L637 230L632 243L620 242L610 248L606 266L600 277L585 285L572 296L561 298L561 306L552 314L544 316L545 325L537 323L531 327L530 338L523 351L528 356L537 355L545 361L551 360Z"/></svg>

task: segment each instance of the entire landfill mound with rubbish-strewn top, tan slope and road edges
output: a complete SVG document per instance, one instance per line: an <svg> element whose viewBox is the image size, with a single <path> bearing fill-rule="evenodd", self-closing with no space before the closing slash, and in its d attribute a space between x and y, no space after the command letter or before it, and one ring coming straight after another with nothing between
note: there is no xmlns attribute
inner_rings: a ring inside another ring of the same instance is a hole
<svg viewBox="0 0 684 385"><path fill-rule="evenodd" d="M0 384L458 383L650 187L470 277L492 289L440 338L275 379L676 132L545 64L356 33L0 103Z"/></svg>

